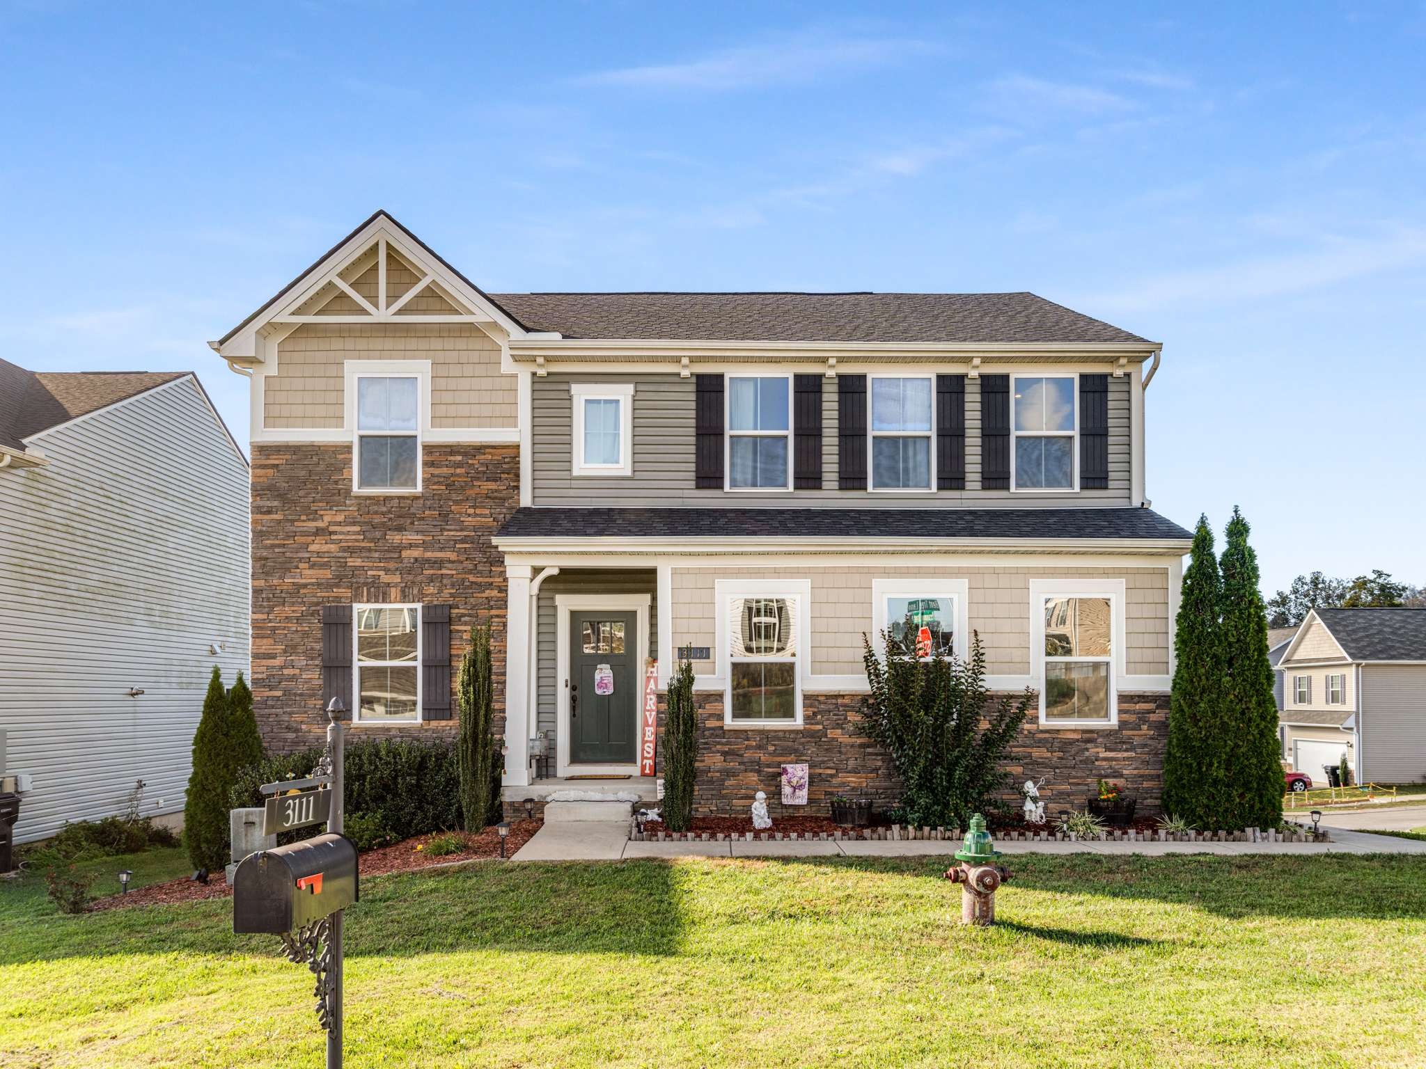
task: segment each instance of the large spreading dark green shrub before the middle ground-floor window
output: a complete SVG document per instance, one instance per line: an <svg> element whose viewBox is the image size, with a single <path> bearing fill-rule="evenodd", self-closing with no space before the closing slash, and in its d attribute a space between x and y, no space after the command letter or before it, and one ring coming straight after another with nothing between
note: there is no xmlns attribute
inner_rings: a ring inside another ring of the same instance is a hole
<svg viewBox="0 0 1426 1069"><path fill-rule="evenodd" d="M967 661L940 654L923 661L887 636L883 663L866 636L863 644L871 684L861 703L866 733L891 754L906 821L964 828L974 812L1007 812L995 797L1010 781L1000 761L1025 720L1030 691L991 701L980 634L971 636Z"/></svg>

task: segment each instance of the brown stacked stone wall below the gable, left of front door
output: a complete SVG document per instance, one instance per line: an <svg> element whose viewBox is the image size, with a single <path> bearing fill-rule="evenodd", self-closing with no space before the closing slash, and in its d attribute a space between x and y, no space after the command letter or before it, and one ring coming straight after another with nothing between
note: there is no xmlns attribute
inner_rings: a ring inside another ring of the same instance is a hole
<svg viewBox="0 0 1426 1069"><path fill-rule="evenodd" d="M270 750L325 738L324 604L449 606L452 686L471 626L488 621L498 704L505 693L505 559L491 537L519 503L518 446L425 445L419 495L352 493L351 465L351 443L252 446L251 686ZM355 724L349 738L452 740L455 728Z"/></svg>

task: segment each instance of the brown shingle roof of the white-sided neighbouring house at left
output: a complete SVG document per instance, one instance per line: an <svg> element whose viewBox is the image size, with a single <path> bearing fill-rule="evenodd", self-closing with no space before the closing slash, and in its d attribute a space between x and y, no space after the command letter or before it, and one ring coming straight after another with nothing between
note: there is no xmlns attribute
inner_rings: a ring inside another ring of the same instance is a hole
<svg viewBox="0 0 1426 1069"><path fill-rule="evenodd" d="M185 371L36 372L0 359L0 446L181 379Z"/></svg>

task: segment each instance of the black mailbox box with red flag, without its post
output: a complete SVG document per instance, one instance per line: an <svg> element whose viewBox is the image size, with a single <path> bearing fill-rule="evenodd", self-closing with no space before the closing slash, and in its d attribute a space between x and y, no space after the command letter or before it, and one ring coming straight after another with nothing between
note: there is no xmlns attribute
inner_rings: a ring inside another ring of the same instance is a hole
<svg viewBox="0 0 1426 1069"><path fill-rule="evenodd" d="M281 935L356 901L356 847L345 835L317 835L260 849L232 874L232 931Z"/></svg>

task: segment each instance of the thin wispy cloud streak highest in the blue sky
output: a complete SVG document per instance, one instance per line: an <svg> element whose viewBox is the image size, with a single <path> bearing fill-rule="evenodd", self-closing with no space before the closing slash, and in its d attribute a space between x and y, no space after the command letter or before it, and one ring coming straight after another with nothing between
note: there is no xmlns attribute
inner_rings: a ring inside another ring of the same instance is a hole
<svg viewBox="0 0 1426 1069"><path fill-rule="evenodd" d="M676 63L596 71L576 81L629 88L744 90L816 81L830 74L881 67L908 54L931 50L933 46L925 41L903 37L810 30Z"/></svg>

